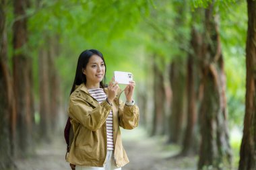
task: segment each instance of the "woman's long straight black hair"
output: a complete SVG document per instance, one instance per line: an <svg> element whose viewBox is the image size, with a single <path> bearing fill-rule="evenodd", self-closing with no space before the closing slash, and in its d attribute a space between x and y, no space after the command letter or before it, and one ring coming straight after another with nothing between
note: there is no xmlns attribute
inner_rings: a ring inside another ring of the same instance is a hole
<svg viewBox="0 0 256 170"><path fill-rule="evenodd" d="M93 56L95 54L100 56L100 58L102 58L104 65L105 65L105 75L104 75L102 81L100 81L100 87L101 88L106 87L106 63L105 63L103 54L100 51L94 50L94 49L85 50L79 55L79 58L77 61L77 67L76 67L76 71L75 71L75 79L73 82L72 89L70 91L70 95L71 95L71 93L73 93L73 91L75 91L75 85L81 85L82 83L84 83L86 85L86 75L84 75L83 70L86 69L86 65L88 64L91 56Z"/></svg>

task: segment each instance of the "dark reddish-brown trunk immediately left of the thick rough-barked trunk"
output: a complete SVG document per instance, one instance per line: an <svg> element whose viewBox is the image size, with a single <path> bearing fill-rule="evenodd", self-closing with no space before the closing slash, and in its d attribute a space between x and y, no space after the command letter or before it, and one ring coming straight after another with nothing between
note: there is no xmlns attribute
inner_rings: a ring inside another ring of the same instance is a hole
<svg viewBox="0 0 256 170"><path fill-rule="evenodd" d="M183 146L181 155L195 155L199 141L196 138L197 133L195 126L197 126L197 103L199 99L197 98L199 94L199 69L198 60L201 58L201 44L202 44L202 35L199 32L199 29L195 25L201 26L200 22L197 22L197 18L201 18L201 9L196 9L192 13L192 26L191 26L191 53L189 53L187 60L187 128L185 130L185 136L183 138Z"/></svg>

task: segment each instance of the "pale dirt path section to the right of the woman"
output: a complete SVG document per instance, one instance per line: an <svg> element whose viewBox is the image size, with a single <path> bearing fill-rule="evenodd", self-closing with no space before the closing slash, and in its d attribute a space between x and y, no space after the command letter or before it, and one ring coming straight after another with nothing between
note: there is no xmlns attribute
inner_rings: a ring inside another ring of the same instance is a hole
<svg viewBox="0 0 256 170"><path fill-rule="evenodd" d="M196 170L195 157L173 159L179 148L166 145L164 138L148 138L143 130L123 132L130 163L122 170Z"/></svg>

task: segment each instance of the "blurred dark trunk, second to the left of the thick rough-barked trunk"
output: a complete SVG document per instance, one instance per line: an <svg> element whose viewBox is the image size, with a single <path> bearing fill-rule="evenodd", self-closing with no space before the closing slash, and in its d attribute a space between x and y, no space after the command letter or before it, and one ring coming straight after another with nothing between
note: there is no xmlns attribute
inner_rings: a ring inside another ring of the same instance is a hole
<svg viewBox="0 0 256 170"><path fill-rule="evenodd" d="M183 58L172 63L170 69L170 84L172 86L172 108L170 115L170 136L168 142L181 142L185 112L185 63Z"/></svg>

